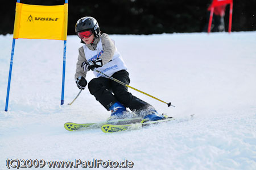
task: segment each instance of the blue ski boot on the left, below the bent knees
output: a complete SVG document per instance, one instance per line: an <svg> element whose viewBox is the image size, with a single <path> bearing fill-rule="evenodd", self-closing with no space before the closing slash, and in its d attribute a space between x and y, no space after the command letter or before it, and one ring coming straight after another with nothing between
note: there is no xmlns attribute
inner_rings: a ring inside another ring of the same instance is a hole
<svg viewBox="0 0 256 170"><path fill-rule="evenodd" d="M113 121L114 119L123 119L127 117L131 117L130 111L127 111L125 106L123 106L119 102L115 102L113 105L109 107L109 110L112 111L110 117L107 121Z"/></svg>

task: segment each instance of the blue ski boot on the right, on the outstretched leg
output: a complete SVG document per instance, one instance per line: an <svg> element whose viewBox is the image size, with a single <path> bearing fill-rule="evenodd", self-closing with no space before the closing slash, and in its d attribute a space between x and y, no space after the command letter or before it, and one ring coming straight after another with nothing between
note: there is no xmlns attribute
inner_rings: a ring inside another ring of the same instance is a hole
<svg viewBox="0 0 256 170"><path fill-rule="evenodd" d="M141 121L141 123L147 121L158 121L167 117L166 115L160 115L152 106L143 110L141 115L143 115L143 120Z"/></svg>

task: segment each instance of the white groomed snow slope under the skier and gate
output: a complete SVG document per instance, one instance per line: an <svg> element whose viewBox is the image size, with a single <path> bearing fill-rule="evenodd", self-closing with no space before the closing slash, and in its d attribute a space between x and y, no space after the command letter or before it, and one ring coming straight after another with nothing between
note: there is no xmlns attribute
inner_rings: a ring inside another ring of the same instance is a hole
<svg viewBox="0 0 256 170"><path fill-rule="evenodd" d="M63 106L63 41L16 40L6 112L13 35L0 35L0 169L7 169L7 159L127 159L134 163L130 169L256 169L255 31L110 37L129 68L130 85L176 107L129 91L176 121L115 134L65 130L65 122L102 122L110 115L87 88L67 105L79 93L74 74L82 44L75 35L67 40Z"/></svg>

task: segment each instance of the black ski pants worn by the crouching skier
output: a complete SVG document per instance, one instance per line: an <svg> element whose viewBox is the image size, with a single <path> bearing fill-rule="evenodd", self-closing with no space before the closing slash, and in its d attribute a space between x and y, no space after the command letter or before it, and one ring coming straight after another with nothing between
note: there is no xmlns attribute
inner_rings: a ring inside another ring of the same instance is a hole
<svg viewBox="0 0 256 170"><path fill-rule="evenodd" d="M127 85L130 83L129 73L125 70L114 73L112 77ZM138 111L150 106L148 103L129 93L126 86L106 77L93 78L88 84L88 89L90 94L107 110L117 101L122 103L123 106L129 107L131 111Z"/></svg>

